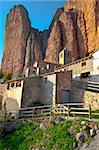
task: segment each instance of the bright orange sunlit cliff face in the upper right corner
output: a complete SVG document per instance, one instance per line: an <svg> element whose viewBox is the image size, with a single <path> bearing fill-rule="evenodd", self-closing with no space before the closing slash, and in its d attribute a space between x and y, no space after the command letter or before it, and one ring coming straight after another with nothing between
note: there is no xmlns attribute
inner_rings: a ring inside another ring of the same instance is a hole
<svg viewBox="0 0 99 150"><path fill-rule="evenodd" d="M64 11L76 11L76 31L80 57L99 49L99 0L68 0Z"/></svg>

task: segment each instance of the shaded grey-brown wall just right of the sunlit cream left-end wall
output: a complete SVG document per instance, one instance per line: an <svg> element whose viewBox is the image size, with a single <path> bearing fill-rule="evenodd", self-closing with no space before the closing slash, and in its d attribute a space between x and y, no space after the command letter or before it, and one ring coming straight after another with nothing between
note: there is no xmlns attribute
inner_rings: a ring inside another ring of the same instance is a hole
<svg viewBox="0 0 99 150"><path fill-rule="evenodd" d="M31 77L24 80L22 107L32 106L35 102L40 102L40 77Z"/></svg>

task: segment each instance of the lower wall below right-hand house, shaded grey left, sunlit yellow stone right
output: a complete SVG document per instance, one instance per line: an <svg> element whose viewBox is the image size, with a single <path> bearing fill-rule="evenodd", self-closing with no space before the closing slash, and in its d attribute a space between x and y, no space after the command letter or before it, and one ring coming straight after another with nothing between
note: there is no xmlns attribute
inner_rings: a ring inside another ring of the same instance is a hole
<svg viewBox="0 0 99 150"><path fill-rule="evenodd" d="M84 107L89 107L89 105L91 105L92 109L99 109L99 92L98 92L99 83L98 82L92 83L93 84L89 84L83 81L72 80L70 102L71 103L80 102L84 103ZM97 92L95 90L97 90Z"/></svg>

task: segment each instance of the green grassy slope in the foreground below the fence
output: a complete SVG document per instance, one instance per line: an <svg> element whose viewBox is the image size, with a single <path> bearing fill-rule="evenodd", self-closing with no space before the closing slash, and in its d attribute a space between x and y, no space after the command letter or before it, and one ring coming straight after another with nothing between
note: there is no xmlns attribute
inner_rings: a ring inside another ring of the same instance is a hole
<svg viewBox="0 0 99 150"><path fill-rule="evenodd" d="M39 124L24 124L0 140L0 150L30 150L39 147L46 150L73 150L75 137L69 134L71 126L80 131L82 120L68 120L58 124L47 122L45 130Z"/></svg>

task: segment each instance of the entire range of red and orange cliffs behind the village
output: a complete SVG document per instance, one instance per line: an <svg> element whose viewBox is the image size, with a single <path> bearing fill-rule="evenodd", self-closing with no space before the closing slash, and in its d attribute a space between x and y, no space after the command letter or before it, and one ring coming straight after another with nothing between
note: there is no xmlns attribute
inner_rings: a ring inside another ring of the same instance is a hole
<svg viewBox="0 0 99 150"><path fill-rule="evenodd" d="M56 11L48 30L31 27L22 6L7 16L2 70L21 73L35 60L58 62L59 52L66 47L71 61L99 49L99 1L68 0Z"/></svg>

